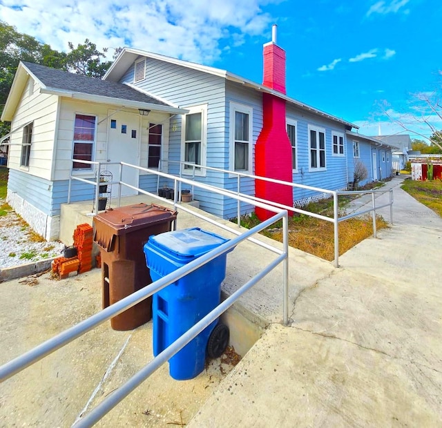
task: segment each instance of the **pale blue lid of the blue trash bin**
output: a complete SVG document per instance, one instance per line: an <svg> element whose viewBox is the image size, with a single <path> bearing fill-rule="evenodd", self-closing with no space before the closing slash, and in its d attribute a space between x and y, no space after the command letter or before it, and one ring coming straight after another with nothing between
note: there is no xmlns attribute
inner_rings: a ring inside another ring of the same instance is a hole
<svg viewBox="0 0 442 428"><path fill-rule="evenodd" d="M193 260L227 241L229 240L220 235L192 227L153 235L149 237L148 244L179 260L183 257Z"/></svg>

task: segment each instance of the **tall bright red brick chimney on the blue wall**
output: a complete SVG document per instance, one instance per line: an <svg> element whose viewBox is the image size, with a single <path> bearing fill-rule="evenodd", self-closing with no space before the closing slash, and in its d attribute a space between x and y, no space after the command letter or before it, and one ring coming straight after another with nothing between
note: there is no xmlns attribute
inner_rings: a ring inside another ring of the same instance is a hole
<svg viewBox="0 0 442 428"><path fill-rule="evenodd" d="M272 27L271 38L271 42L265 43L263 50L262 84L285 94L285 50L276 45L276 25ZM255 174L292 182L291 144L285 123L285 100L263 93L262 115L262 130L255 146ZM256 179L255 194L265 200L293 206L293 191L290 186ZM273 213L256 208L256 215L260 220L267 220Z"/></svg>

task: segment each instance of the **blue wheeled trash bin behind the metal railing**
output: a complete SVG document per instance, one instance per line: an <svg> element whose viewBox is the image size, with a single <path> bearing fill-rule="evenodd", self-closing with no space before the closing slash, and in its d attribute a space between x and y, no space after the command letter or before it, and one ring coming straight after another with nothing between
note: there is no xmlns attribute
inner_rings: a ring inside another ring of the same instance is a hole
<svg viewBox="0 0 442 428"><path fill-rule="evenodd" d="M144 245L144 254L152 280L163 278L227 241L224 237L198 227L149 237ZM164 351L218 306L221 283L226 275L226 259L227 253L224 253L153 295L154 356ZM222 335L222 342L227 346L229 329L222 324L217 326L217 323L218 320L212 322L169 360L169 373L172 378L192 379L204 370L206 347L212 332L216 331L217 335ZM213 331L215 327L217 330Z"/></svg>

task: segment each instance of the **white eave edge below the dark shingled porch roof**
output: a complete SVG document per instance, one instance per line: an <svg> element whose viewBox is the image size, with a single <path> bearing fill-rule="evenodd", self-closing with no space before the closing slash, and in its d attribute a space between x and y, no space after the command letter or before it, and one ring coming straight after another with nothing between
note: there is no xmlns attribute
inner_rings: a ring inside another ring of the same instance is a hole
<svg viewBox="0 0 442 428"><path fill-rule="evenodd" d="M41 93L58 95L59 97L66 97L71 99L78 99L79 101L93 101L99 104L111 104L114 106L125 106L129 108L146 108L147 110L153 110L162 113L171 113L173 115L185 115L186 113L189 113L189 110L186 110L185 108L162 106L160 104L146 103L142 101L133 101L130 99L104 97L103 95L77 93L71 91L58 90L55 88L42 88Z"/></svg>

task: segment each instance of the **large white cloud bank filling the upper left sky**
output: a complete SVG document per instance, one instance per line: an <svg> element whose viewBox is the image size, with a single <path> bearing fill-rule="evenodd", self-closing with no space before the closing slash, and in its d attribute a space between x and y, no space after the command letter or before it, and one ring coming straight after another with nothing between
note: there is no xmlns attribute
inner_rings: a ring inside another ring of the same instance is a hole
<svg viewBox="0 0 442 428"><path fill-rule="evenodd" d="M0 16L56 50L88 38L99 50L130 46L211 64L220 44L238 46L247 35L270 33L273 21L262 6L278 1L2 0Z"/></svg>

